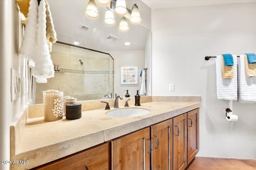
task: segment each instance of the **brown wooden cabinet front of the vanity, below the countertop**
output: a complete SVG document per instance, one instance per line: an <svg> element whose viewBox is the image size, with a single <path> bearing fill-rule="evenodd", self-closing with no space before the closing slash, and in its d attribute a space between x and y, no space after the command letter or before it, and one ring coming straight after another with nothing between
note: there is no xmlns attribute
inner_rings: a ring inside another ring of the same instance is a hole
<svg viewBox="0 0 256 170"><path fill-rule="evenodd" d="M199 151L199 109L33 170L184 170Z"/></svg>

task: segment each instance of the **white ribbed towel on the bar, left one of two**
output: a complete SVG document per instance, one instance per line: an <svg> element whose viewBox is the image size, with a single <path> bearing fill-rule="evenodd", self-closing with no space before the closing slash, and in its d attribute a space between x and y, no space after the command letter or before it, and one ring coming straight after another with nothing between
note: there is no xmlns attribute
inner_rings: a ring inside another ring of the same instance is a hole
<svg viewBox="0 0 256 170"><path fill-rule="evenodd" d="M232 79L222 78L222 57L216 56L216 88L217 98L222 100L237 100L237 57L234 60L234 75Z"/></svg>

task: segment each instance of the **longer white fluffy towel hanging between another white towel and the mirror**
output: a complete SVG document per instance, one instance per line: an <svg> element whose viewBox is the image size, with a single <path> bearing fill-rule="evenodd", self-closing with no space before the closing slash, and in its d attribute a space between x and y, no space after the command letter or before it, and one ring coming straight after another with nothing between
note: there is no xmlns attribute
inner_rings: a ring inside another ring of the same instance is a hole
<svg viewBox="0 0 256 170"><path fill-rule="evenodd" d="M37 37L37 59L32 75L38 79L52 78L54 77L54 68L46 38L46 6L44 0L40 1L38 7Z"/></svg>

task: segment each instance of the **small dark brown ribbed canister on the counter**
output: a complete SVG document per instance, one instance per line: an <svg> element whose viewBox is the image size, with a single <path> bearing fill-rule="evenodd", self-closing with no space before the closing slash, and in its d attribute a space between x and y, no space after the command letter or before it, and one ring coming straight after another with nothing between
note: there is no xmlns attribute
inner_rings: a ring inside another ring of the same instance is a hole
<svg viewBox="0 0 256 170"><path fill-rule="evenodd" d="M81 106L82 104L67 104L66 105L66 119L74 120L81 118Z"/></svg>

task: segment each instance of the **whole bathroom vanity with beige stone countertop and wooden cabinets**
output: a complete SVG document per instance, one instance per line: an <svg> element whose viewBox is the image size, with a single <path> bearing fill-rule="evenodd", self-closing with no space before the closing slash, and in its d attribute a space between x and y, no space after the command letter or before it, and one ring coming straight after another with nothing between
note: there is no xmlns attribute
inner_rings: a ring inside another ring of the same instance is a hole
<svg viewBox="0 0 256 170"><path fill-rule="evenodd" d="M28 121L11 158L29 164L11 169L185 169L199 149L200 97L151 98L130 105L150 110L137 117L96 109L72 121Z"/></svg>

